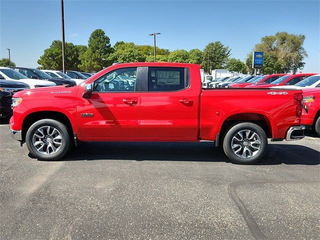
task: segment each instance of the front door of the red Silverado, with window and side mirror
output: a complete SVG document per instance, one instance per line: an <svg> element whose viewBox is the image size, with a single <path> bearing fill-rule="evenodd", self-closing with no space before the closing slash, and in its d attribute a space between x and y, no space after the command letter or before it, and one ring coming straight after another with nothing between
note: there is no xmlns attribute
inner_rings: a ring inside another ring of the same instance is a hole
<svg viewBox="0 0 320 240"><path fill-rule="evenodd" d="M86 99L77 93L77 121L84 139L139 137L141 67L123 67L105 73L92 84Z"/></svg>

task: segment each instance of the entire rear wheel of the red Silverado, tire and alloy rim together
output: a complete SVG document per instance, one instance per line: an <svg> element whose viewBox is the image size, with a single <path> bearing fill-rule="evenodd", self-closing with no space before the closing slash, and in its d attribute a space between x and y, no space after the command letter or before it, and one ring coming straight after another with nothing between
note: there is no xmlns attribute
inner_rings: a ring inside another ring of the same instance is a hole
<svg viewBox="0 0 320 240"><path fill-rule="evenodd" d="M248 139L247 141L245 141L246 137L244 136L244 134L248 130L249 130L249 133L252 133L251 136L254 136L254 137L252 138L252 140ZM241 135L243 134L242 135L244 136L243 140L240 140L240 141L236 140L236 138L241 139L241 136L239 134ZM233 143L232 143L232 139L233 139ZM256 140L259 140L260 143L259 144L255 143ZM233 149L232 149L232 144L235 146ZM257 147L259 147L258 150L256 149ZM252 122L241 122L229 127L229 129L226 131L226 134L223 138L223 151L225 155L232 162L237 164L252 164L257 162L265 154L266 147L267 147L267 138L266 138L265 132L259 125L254 124ZM242 157L239 156L239 155L242 155L240 154L241 152L242 154L244 154L244 156ZM250 156L250 152L252 156Z"/></svg>

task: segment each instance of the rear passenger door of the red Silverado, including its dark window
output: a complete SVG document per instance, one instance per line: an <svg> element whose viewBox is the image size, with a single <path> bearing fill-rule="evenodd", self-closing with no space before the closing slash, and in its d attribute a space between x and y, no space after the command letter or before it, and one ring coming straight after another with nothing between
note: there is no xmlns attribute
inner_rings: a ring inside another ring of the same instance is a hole
<svg viewBox="0 0 320 240"><path fill-rule="evenodd" d="M197 137L196 87L185 67L143 67L140 94L142 137Z"/></svg>

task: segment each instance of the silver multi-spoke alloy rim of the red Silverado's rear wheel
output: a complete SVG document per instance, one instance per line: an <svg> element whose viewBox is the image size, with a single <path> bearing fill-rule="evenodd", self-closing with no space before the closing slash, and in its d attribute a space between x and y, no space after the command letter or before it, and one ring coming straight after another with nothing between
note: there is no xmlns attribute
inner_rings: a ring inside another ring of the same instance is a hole
<svg viewBox="0 0 320 240"><path fill-rule="evenodd" d="M260 137L252 130L240 130L232 137L231 147L235 155L241 158L255 156L261 147Z"/></svg>

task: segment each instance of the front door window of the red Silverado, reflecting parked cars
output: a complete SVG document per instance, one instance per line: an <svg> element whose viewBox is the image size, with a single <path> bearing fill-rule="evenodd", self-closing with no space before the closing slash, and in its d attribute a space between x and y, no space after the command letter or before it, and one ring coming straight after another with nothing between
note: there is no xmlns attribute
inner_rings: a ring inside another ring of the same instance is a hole
<svg viewBox="0 0 320 240"><path fill-rule="evenodd" d="M136 67L125 67L110 71L94 81L93 91L134 91L135 76Z"/></svg>

